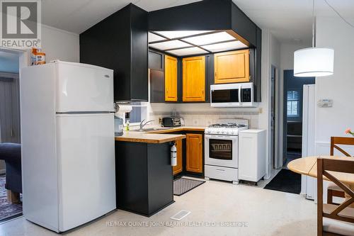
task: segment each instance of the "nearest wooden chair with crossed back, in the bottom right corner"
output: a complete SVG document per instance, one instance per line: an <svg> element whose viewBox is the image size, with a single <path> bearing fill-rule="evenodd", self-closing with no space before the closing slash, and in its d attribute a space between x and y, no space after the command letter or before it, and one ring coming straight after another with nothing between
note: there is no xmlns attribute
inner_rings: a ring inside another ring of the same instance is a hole
<svg viewBox="0 0 354 236"><path fill-rule="evenodd" d="M317 235L354 235L354 191L339 181L330 172L354 174L354 162L338 159L317 159ZM324 204L324 176L337 184L350 198L341 205Z"/></svg>

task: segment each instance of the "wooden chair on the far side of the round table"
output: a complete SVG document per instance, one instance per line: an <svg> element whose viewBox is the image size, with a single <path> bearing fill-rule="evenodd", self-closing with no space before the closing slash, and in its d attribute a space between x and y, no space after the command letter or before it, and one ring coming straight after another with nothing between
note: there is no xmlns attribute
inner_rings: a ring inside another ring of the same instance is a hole
<svg viewBox="0 0 354 236"><path fill-rule="evenodd" d="M336 149L345 154L346 157L350 157L350 154L338 145L354 145L354 137L331 137L331 156L334 155L334 149ZM333 196L344 198L344 192L336 184L331 183L327 189L327 203L336 204L333 203Z"/></svg>

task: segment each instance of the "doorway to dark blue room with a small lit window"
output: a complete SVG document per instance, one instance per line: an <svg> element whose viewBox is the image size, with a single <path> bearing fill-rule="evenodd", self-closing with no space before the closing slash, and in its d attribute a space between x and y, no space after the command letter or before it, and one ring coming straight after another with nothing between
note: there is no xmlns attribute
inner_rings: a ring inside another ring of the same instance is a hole
<svg viewBox="0 0 354 236"><path fill-rule="evenodd" d="M302 157L302 103L304 84L314 77L294 77L293 69L284 70L283 167Z"/></svg>

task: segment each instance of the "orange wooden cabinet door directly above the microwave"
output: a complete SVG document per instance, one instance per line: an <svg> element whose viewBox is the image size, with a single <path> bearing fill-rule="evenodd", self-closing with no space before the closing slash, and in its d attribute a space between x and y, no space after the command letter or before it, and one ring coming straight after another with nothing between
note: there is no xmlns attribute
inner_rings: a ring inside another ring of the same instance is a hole
<svg viewBox="0 0 354 236"><path fill-rule="evenodd" d="M215 84L249 82L249 50L214 55Z"/></svg>

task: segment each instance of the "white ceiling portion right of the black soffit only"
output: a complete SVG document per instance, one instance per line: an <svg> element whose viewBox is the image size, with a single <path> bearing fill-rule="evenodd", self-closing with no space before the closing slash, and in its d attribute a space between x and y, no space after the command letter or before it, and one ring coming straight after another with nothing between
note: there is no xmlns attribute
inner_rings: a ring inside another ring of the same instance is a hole
<svg viewBox="0 0 354 236"><path fill-rule="evenodd" d="M281 43L311 44L312 0L233 0L261 28L268 28ZM354 23L353 0L327 0ZM339 18L324 0L315 0L316 16Z"/></svg>

